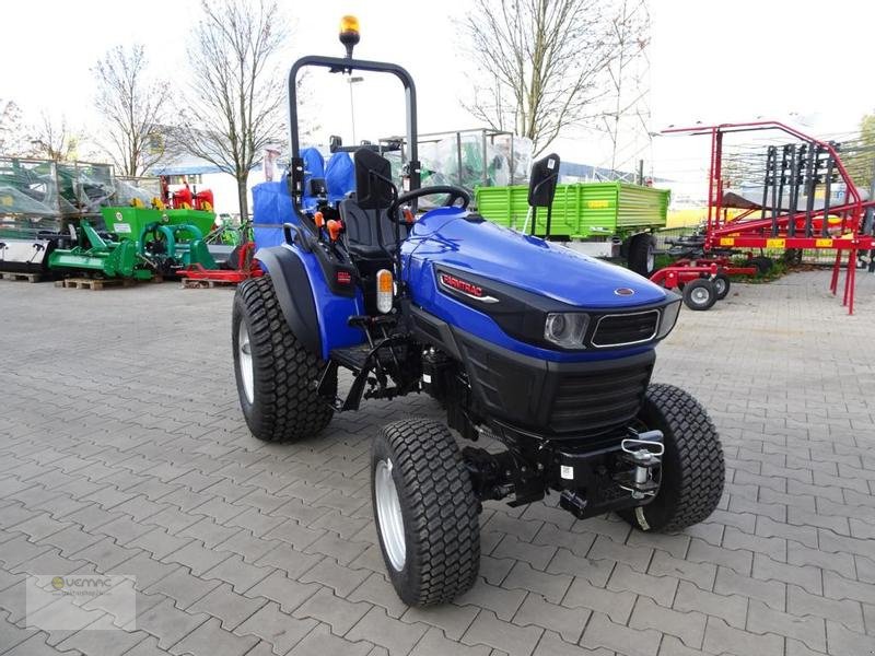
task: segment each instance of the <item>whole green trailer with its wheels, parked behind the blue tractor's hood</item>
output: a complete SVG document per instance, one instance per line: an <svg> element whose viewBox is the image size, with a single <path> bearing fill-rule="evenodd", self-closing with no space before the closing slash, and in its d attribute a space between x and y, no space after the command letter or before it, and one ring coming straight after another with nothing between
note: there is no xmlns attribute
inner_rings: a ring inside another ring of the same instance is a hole
<svg viewBox="0 0 875 656"><path fill-rule="evenodd" d="M649 276L655 268L653 231L665 227L669 192L627 183L557 185L550 237L575 250L621 258ZM528 187L478 187L477 211L489 221L532 234ZM534 234L547 236L547 211L540 210Z"/></svg>

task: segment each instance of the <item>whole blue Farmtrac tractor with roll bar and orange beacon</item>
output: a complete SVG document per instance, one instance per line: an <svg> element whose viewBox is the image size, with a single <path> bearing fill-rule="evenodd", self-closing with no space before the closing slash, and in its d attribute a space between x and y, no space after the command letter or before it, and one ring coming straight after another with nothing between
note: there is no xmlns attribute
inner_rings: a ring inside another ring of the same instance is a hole
<svg viewBox="0 0 875 656"><path fill-rule="evenodd" d="M464 188L420 187L413 80L399 66L354 59L358 40L345 19L347 56L304 57L289 74L291 220L283 244L257 253L268 274L243 282L233 306L252 433L313 440L365 399L428 394L445 408L445 423L407 418L373 440L380 544L410 605L445 602L475 584L487 500L518 506L558 493L579 518L615 512L645 531L705 519L723 491L718 433L692 396L650 382L680 297L485 221ZM311 67L400 81L400 179L383 156L392 144L335 142L354 155L354 191L331 202L306 188L322 188L305 185L298 130L298 80ZM558 168L556 155L534 166L534 208L549 208ZM314 195L317 209L305 210ZM444 206L417 215L418 199L435 195Z"/></svg>

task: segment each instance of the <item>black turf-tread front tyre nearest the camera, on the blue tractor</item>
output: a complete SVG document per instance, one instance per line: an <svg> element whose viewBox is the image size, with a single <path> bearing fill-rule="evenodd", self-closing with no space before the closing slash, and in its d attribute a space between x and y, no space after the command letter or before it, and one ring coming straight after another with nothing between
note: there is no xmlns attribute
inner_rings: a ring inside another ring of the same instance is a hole
<svg viewBox="0 0 875 656"><path fill-rule="evenodd" d="M402 517L400 570L392 564L377 509L381 461L390 461ZM386 571L405 604L445 604L474 586L480 567L480 505L446 425L413 418L383 426L371 448L371 494Z"/></svg>

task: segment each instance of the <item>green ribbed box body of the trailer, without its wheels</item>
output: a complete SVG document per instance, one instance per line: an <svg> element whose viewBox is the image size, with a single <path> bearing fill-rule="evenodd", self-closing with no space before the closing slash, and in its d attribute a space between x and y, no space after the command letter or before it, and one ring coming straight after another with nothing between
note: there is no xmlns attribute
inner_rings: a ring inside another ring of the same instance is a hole
<svg viewBox="0 0 875 656"><path fill-rule="evenodd" d="M625 183L557 185L551 236L608 237L665 226L669 192ZM523 230L528 215L528 187L478 187L477 210L486 219ZM529 226L530 230L530 226ZM547 230L547 210L538 210L536 234Z"/></svg>

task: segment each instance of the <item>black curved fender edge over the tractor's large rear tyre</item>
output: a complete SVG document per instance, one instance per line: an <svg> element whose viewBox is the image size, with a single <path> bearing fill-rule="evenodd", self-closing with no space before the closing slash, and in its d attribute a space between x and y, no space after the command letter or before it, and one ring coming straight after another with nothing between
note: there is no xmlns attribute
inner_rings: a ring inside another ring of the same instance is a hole
<svg viewBox="0 0 875 656"><path fill-rule="evenodd" d="M277 301L289 328L307 351L322 358L316 303L301 257L291 248L283 246L259 248L255 257L270 274Z"/></svg>

